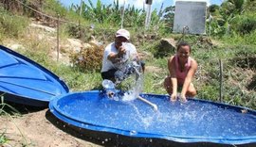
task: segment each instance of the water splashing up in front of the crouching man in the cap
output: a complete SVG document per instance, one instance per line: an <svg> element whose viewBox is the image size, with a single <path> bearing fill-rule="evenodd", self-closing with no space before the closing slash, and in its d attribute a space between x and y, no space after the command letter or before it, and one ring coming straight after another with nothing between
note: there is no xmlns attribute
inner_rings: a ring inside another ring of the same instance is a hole
<svg viewBox="0 0 256 147"><path fill-rule="evenodd" d="M122 43L122 45L124 48L131 47L128 43ZM119 97L116 96L115 88L121 83L122 90L126 91L121 97L122 101L135 100L143 90L143 74L140 61L137 60L137 57L133 57L127 52L121 57L120 62L117 65L118 71L115 73L115 84L110 80L104 80L102 86L106 92L112 93L110 96L107 95L108 98Z"/></svg>

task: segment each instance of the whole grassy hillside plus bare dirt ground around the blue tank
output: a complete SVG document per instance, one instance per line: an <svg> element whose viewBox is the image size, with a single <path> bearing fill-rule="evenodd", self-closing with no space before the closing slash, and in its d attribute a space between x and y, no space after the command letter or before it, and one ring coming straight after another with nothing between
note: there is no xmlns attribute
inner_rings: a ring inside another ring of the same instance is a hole
<svg viewBox="0 0 256 147"><path fill-rule="evenodd" d="M81 17L79 8L67 9L55 0L26 2L30 8L20 3L0 1L1 44L56 73L64 79L71 91L101 88L102 50L113 41L115 31L119 28L119 8L116 8L117 11L113 10L115 8L108 9L112 10L111 15L99 12L97 8L92 8L95 13L85 9L84 12L90 15ZM126 12L131 17L127 17L128 23L125 24L132 34L131 41L146 62L143 92L166 94L163 80L168 75L167 59L175 53L178 41L188 41L192 44L192 57L198 62L198 70L192 81L197 90L196 98L256 109L256 17L253 15L253 6L253 1L251 5L245 4L244 8L247 9L240 13L229 7L229 17L223 14L225 5L220 8L212 7L215 22L211 25L214 29L211 36L173 34L170 25L160 25L166 23L164 21L158 22L158 28L152 27L145 31L141 26L143 11L139 15L139 10L127 9ZM57 12L62 20L59 27ZM173 16L172 13L169 14L166 17ZM156 13L153 15L154 19L155 22L158 21ZM137 24L131 24L133 22ZM155 22L153 21L154 26ZM226 30L228 24L229 34ZM220 66L223 68L222 72ZM65 125L57 121L48 109L9 105L19 112L13 113L13 109L5 103L0 104L1 146L108 145L104 139L86 138L64 129Z"/></svg>

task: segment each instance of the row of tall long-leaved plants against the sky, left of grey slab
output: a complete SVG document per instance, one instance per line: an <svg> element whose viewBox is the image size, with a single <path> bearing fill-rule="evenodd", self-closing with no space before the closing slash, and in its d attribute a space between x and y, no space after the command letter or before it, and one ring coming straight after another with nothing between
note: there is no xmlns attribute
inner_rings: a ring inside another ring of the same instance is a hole
<svg viewBox="0 0 256 147"><path fill-rule="evenodd" d="M76 13L80 12L80 6L72 6ZM88 0L88 4L82 2L82 17L85 20L99 24L111 24L112 26L120 26L121 11L119 0L114 0L113 5L103 5L101 0L97 0L94 6L92 0ZM124 9L124 27L142 26L146 17L145 10L135 8L135 6ZM153 25L158 23L159 17L156 15L156 10L153 11Z"/></svg>

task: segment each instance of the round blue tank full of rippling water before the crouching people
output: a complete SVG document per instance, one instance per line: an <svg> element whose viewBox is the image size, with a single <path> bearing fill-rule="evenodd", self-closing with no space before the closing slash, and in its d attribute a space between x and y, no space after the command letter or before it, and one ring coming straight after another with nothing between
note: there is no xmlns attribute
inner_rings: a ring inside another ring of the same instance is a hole
<svg viewBox="0 0 256 147"><path fill-rule="evenodd" d="M246 144L256 142L256 112L190 99L171 103L167 95L142 94L158 111L139 100L106 98L99 90L74 92L50 101L50 111L78 128L131 138L177 142Z"/></svg>

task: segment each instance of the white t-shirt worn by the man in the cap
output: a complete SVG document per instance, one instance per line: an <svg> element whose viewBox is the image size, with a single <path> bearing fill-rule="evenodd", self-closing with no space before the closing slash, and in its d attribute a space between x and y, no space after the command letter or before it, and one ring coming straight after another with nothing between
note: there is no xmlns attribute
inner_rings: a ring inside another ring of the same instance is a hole
<svg viewBox="0 0 256 147"><path fill-rule="evenodd" d="M135 45L133 45L130 42L125 43L125 50L126 54L122 57L122 61L129 59L129 57L135 57L137 55L137 50ZM119 66L122 65L122 63L113 63L110 61L107 57L110 55L110 53L115 53L118 54L118 49L115 46L115 42L112 42L108 44L105 48L104 55L103 55L103 60L102 60L102 68L101 68L101 73L102 72L107 72L112 69L119 69Z"/></svg>

